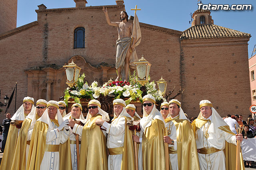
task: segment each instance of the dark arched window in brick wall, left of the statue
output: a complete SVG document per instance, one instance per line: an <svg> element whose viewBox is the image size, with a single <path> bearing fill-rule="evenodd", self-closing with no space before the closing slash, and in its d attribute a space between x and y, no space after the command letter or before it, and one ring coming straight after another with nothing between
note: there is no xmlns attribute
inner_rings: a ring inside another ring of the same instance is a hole
<svg viewBox="0 0 256 170"><path fill-rule="evenodd" d="M74 48L84 48L85 30L78 27L74 31Z"/></svg>

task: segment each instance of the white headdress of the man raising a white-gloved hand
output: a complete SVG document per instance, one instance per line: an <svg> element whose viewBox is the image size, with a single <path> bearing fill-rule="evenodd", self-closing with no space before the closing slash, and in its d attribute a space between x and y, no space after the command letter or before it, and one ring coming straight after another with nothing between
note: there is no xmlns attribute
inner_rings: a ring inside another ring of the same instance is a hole
<svg viewBox="0 0 256 170"><path fill-rule="evenodd" d="M47 102L47 108L49 106L54 106L54 107L57 108L57 114L56 114L55 118L57 118L59 125L62 124L63 118L62 118L62 116L60 114L58 102L54 101L54 100L50 100L49 102ZM44 111L43 115L38 120L36 120L36 121L42 121L42 122L48 124L48 131L53 130L53 126L52 126L50 117L48 115L48 109L46 109Z"/></svg>

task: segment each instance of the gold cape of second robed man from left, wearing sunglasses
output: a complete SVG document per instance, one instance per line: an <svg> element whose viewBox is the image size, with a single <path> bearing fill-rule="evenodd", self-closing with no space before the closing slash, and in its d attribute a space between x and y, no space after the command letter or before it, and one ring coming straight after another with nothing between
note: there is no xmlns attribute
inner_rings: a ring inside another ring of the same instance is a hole
<svg viewBox="0 0 256 170"><path fill-rule="evenodd" d="M16 148L15 148L14 159L12 162L11 170L26 169L27 137L28 137L28 128L30 127L31 122L32 122L32 120L29 118L26 118L22 122L22 126L20 128L20 133L18 136Z"/></svg>

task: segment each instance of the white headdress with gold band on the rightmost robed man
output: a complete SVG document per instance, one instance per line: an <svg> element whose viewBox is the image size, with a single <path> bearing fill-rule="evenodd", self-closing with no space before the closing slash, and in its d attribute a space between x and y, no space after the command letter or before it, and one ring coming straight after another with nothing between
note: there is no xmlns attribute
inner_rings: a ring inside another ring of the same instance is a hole
<svg viewBox="0 0 256 170"><path fill-rule="evenodd" d="M220 126L228 126L228 124L226 124L226 122L220 117L220 115L218 114L218 112L214 109L214 107L212 106L212 103L209 100L201 100L200 103L200 109L204 106L209 106L212 108L212 118L211 118L211 124L208 128L209 132L213 132L215 133L215 128L218 128ZM202 118L202 113L200 111L198 118Z"/></svg>

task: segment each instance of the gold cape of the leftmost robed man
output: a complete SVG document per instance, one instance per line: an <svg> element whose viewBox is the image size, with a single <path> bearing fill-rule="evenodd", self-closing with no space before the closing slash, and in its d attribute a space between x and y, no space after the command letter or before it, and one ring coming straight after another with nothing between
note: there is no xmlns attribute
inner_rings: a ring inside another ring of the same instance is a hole
<svg viewBox="0 0 256 170"><path fill-rule="evenodd" d="M4 155L1 161L0 170L10 170L14 158L14 152L18 139L18 128L15 125L10 125Z"/></svg>

